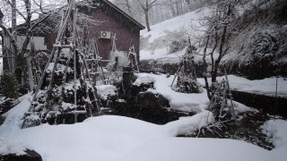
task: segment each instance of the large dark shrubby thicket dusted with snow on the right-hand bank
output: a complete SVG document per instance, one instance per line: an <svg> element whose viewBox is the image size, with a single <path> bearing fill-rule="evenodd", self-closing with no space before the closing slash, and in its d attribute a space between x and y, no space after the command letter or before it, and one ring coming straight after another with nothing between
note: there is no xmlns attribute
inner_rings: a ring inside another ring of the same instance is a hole
<svg viewBox="0 0 287 161"><path fill-rule="evenodd" d="M222 66L249 79L286 75L287 1L264 10L251 8L232 21L230 48Z"/></svg>

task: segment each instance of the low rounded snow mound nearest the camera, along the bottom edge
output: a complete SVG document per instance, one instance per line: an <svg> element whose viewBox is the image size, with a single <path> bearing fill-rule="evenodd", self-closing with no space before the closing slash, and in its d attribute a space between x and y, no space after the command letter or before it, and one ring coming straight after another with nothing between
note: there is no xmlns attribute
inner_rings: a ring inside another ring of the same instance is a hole
<svg viewBox="0 0 287 161"><path fill-rule="evenodd" d="M267 150L243 141L201 138L151 140L133 149L124 158L125 161L278 161L278 157L270 155Z"/></svg>

